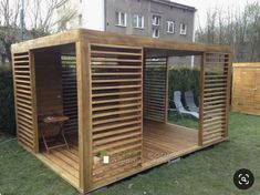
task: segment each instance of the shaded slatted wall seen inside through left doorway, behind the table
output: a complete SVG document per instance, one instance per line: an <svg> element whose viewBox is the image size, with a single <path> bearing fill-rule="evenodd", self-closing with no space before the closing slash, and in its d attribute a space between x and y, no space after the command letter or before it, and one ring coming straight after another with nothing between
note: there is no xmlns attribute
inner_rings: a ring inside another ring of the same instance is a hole
<svg viewBox="0 0 260 195"><path fill-rule="evenodd" d="M63 114L70 120L64 124L64 132L77 132L77 86L75 55L61 55Z"/></svg>

